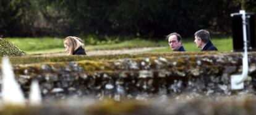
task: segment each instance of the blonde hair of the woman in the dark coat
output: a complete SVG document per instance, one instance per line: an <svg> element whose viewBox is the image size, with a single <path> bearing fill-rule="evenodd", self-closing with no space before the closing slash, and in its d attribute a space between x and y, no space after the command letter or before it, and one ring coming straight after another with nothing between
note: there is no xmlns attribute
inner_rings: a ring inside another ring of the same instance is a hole
<svg viewBox="0 0 256 115"><path fill-rule="evenodd" d="M77 37L77 36L67 36L64 39L64 44L65 41L67 41L67 46L69 46L69 55L72 55L73 52L78 49L79 47L82 47L83 49L85 49L85 45L83 44L83 41Z"/></svg>

